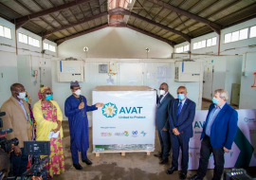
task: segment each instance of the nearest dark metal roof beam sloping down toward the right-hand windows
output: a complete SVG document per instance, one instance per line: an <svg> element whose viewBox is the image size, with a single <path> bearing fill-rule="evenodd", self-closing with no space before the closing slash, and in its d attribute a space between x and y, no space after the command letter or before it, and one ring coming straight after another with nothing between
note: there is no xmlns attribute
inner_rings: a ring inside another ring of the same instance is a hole
<svg viewBox="0 0 256 180"><path fill-rule="evenodd" d="M203 17L200 17L198 15L195 15L187 10L184 10L184 9L179 9L177 7L174 7L173 5L170 5L170 4L167 4L161 0L148 0L149 2L151 3L154 3L155 5L158 5L158 6L161 6L161 7L164 7L165 9L170 9L176 13L179 13L181 15L184 15L184 16L187 16L197 22L200 22L200 23L203 23L203 24L206 24L208 25L212 30L214 30L217 34L220 34L220 30L221 30L221 25L219 24L216 24L214 22L211 22L210 20L208 19L205 19Z"/></svg>

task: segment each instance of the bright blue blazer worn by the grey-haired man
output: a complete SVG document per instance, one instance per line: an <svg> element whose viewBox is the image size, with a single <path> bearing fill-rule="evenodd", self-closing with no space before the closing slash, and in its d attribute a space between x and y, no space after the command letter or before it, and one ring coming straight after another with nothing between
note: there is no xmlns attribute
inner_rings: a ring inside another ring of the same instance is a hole
<svg viewBox="0 0 256 180"><path fill-rule="evenodd" d="M201 139L206 135L206 127L209 121L208 117L210 111L214 108L214 104L210 104L208 111L208 116L206 118L206 123L203 128ZM211 127L210 127L210 144L213 148L228 148L231 149L232 143L234 141L237 132L237 121L238 114L228 103L226 103L217 117L215 117Z"/></svg>

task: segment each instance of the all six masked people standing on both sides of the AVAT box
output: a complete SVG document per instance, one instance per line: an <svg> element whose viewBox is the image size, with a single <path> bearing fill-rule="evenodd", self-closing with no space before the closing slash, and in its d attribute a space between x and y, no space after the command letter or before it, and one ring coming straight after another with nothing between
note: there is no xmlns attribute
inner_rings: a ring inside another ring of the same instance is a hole
<svg viewBox="0 0 256 180"><path fill-rule="evenodd" d="M91 165L87 157L89 148L88 119L86 112L97 110L103 103L92 106L87 105L87 100L81 95L81 87L78 81L70 82L72 95L64 102L64 115L68 117L70 150L73 166L82 170L79 163L79 154L82 153L82 162ZM24 154L24 141L36 139L50 141L50 161L46 165L49 177L64 172L63 152L63 113L58 103L53 98L53 92L49 87L42 87L38 93L39 100L33 108L27 99L25 87L14 83L10 87L11 97L2 105L1 112L6 112L3 117L4 128L13 130L7 138L17 137L18 146L14 146L10 153L10 163L13 166L13 175L20 176L27 171L28 156ZM156 100L156 127L161 146L161 152L155 154L161 158L159 164L167 164L171 149L173 151L172 167L168 174L178 170L179 151L181 150L180 179L187 178L189 164L189 142L193 135L192 122L195 116L195 103L187 98L188 92L185 86L177 89L177 99L169 93L167 83L159 87L160 96ZM29 98L29 97L28 97ZM237 131L237 112L226 102L229 94L224 89L214 92L212 104L201 135L201 150L199 168L190 180L202 180L208 170L210 153L214 158L213 180L220 180L224 170L224 153L231 149ZM28 101L28 103L27 103ZM34 121L36 122L36 134L34 133ZM54 132L57 137L49 138Z"/></svg>

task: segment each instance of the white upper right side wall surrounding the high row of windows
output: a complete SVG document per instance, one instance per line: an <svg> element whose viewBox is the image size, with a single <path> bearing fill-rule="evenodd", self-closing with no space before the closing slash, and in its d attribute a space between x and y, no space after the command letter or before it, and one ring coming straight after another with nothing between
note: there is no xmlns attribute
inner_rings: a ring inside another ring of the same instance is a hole
<svg viewBox="0 0 256 180"><path fill-rule="evenodd" d="M229 32L233 32L236 30L240 30L246 27L253 27L256 25L256 18L248 20L244 23L232 26L232 27L227 27L221 30L221 41L220 41L220 55L243 55L246 52L255 52L256 51L256 46L254 47L249 47L248 45L256 45L256 37L254 38L249 38L246 40L241 40L241 41L237 41L237 42L232 42L232 43L228 43L228 44L224 44L224 37L225 34L229 33ZM191 46L191 58L194 59L198 59L198 58L202 58L202 57L210 57L212 55L218 55L218 34L215 32L211 32L209 34L197 37L197 38L193 38L192 39L192 45L196 42L202 41L202 40L207 40L210 39L212 37L217 37L217 45L213 45L210 47L205 47L205 48L200 48L200 49L192 49ZM179 46L183 46L183 45L189 45L188 42L184 42L182 44L179 45L174 45L174 49L176 47ZM208 53L211 52L211 55ZM205 55L193 55L193 54L205 54ZM185 52L185 54L174 54L173 58L177 58L177 59L188 59L190 58L190 55L187 54Z"/></svg>

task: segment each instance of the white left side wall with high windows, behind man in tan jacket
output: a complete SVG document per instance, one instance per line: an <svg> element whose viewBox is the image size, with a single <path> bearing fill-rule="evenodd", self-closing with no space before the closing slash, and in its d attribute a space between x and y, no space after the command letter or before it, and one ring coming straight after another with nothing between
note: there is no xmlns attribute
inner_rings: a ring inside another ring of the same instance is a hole
<svg viewBox="0 0 256 180"><path fill-rule="evenodd" d="M24 73L24 72L19 71L18 73L18 64L21 64L18 62L19 56L23 55L28 57L30 60L33 60L33 65L35 69L39 70L39 67L41 67L42 68L42 84L51 86L50 59L52 57L57 57L57 52L51 52L46 50L46 53L44 55L41 54L41 51L43 49L41 37L24 28L19 28L17 30L17 35L19 32L25 33L30 37L40 40L41 46L35 47L32 45L26 45L26 44L17 42L18 55L16 55L15 26L9 21L1 17L0 17L0 25L11 28L11 39L0 37L0 106L1 106L2 103L7 99L9 99L10 97L9 87L12 83L15 83L15 82L26 83L25 81L33 81L33 78L31 77L31 75L27 77L28 79L27 78L22 79L21 73ZM48 40L45 40L44 42L50 45L57 46L55 43L50 42ZM25 68L27 73L31 73L30 63L24 63L23 67ZM30 92L30 87L27 86L26 88ZM36 90L31 91L31 93L29 94L30 95L37 94L38 90L39 90L39 86L38 88L36 88ZM35 99L37 99L37 97L33 98L34 101Z"/></svg>

